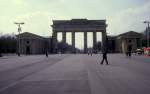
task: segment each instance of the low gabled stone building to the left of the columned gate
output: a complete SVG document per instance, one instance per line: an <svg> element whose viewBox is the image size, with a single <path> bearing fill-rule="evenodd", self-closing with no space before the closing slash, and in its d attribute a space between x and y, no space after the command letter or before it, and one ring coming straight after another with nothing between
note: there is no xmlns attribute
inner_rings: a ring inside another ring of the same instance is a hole
<svg viewBox="0 0 150 94"><path fill-rule="evenodd" d="M46 39L29 32L21 33L17 37L20 40L18 50L20 49L21 54L44 54L50 51L50 38Z"/></svg>

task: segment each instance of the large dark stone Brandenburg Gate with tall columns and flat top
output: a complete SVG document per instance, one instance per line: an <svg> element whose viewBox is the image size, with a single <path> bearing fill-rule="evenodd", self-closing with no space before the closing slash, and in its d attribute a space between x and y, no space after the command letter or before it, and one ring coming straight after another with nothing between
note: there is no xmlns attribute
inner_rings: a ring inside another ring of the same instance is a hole
<svg viewBox="0 0 150 94"><path fill-rule="evenodd" d="M72 52L75 52L75 33L84 33L84 52L87 52L87 32L93 32L93 50L97 43L97 32L102 33L102 51L106 50L106 20L87 20L87 19L72 19L72 20L53 20L52 39L53 48L57 49L57 33L62 33L62 41L66 43L66 33L72 33Z"/></svg>

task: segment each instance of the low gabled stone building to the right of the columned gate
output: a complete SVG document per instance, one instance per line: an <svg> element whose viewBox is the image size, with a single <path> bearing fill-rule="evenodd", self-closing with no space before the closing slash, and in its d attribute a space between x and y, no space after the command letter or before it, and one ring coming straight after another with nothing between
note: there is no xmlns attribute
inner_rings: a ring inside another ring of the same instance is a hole
<svg viewBox="0 0 150 94"><path fill-rule="evenodd" d="M143 35L141 33L129 31L113 38L110 37L108 39L108 48L113 52L126 53L130 46L132 52L135 52L138 48L142 47L142 38Z"/></svg>

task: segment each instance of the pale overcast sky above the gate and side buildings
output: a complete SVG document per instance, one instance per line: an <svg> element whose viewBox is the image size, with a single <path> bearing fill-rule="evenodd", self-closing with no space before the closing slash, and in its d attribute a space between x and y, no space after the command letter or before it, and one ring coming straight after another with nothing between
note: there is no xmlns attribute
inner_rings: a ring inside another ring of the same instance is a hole
<svg viewBox="0 0 150 94"><path fill-rule="evenodd" d="M25 22L23 32L51 35L54 19L106 19L108 34L142 32L150 20L149 0L0 0L0 33L17 34L13 23Z"/></svg>

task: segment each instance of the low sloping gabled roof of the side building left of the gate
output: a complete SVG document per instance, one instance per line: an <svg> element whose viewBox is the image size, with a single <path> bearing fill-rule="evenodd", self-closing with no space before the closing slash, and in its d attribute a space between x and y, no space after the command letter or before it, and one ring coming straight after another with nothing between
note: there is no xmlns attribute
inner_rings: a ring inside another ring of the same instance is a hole
<svg viewBox="0 0 150 94"><path fill-rule="evenodd" d="M18 35L17 35L18 37ZM20 34L20 38L30 38L30 39L44 39L44 37L33 34L33 33L29 33L29 32L24 32Z"/></svg>

